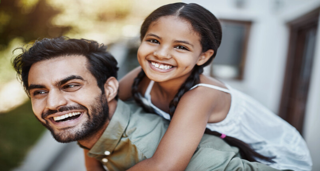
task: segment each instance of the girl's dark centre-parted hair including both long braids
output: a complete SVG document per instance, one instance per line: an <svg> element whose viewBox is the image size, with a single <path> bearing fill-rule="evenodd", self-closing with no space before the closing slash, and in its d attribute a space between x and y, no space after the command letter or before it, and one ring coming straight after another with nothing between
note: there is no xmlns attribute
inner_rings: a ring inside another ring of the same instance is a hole
<svg viewBox="0 0 320 171"><path fill-rule="evenodd" d="M172 117L182 95L186 93L192 86L200 82L200 74L203 72L203 68L209 65L212 62L213 58L216 56L217 50L221 43L222 31L220 21L210 11L208 11L201 5L194 3L173 3L159 7L145 19L140 29L141 41L147 33L150 24L164 16L176 16L189 21L194 31L196 31L200 35L200 44L202 46L202 52L206 52L209 49L214 50L213 55L209 58L209 60L206 63L200 66L194 66L192 73L187 78L187 80L181 85L180 89L178 90L178 93L170 102L169 114ZM134 79L132 85L132 95L138 104L140 104L148 112L151 112L150 108L141 101L141 95L138 92L138 85L145 76L146 74L143 70L141 70L137 78ZM205 133L212 134L215 136L221 136L219 132L211 131L208 129L206 129ZM274 162L272 160L274 157L266 157L255 152L250 147L250 145L244 143L239 139L227 136L224 138L224 140L229 145L238 147L241 157L245 160L257 161L255 160L255 158L257 158L268 162Z"/></svg>

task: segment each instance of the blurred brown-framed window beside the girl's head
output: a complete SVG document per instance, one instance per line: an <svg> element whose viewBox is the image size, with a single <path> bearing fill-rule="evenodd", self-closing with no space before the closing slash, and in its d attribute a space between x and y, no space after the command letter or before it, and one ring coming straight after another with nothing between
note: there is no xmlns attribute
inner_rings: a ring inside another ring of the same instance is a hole
<svg viewBox="0 0 320 171"><path fill-rule="evenodd" d="M242 79L251 22L220 19L222 42L210 67L217 78Z"/></svg>

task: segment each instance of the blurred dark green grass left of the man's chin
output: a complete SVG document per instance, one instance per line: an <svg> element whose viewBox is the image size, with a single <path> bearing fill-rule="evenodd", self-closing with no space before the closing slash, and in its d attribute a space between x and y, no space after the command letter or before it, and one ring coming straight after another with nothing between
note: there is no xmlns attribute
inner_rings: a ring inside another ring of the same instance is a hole
<svg viewBox="0 0 320 171"><path fill-rule="evenodd" d="M0 170L17 167L44 130L32 112L30 101L0 113Z"/></svg>

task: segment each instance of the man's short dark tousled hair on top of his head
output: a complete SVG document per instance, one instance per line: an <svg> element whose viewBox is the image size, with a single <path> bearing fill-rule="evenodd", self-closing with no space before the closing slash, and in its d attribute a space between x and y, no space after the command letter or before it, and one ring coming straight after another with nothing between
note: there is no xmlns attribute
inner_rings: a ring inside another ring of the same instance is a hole
<svg viewBox="0 0 320 171"><path fill-rule="evenodd" d="M88 70L97 79L98 86L104 93L104 83L109 77L117 78L117 61L107 52L107 46L96 41L86 39L70 39L58 37L44 38L36 41L30 48L21 49L22 53L12 60L12 65L23 83L28 96L28 74L31 65L40 61L53 59L59 56L83 55L88 59ZM14 50L14 51L15 51ZM45 71L44 71L45 72Z"/></svg>

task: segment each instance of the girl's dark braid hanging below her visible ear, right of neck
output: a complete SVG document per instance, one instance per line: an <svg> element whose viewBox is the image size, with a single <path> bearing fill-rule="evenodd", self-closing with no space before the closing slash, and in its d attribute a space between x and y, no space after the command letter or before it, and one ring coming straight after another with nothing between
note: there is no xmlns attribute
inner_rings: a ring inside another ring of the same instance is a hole
<svg viewBox="0 0 320 171"><path fill-rule="evenodd" d="M203 72L203 66L195 65L194 69L192 70L190 76L187 78L187 80L181 85L180 89L178 90L178 93L174 96L174 98L169 103L169 114L170 117L173 116L174 111L177 108L177 105L183 96L184 93L189 91L189 89L198 84L200 82L200 74Z"/></svg>

